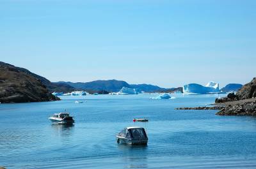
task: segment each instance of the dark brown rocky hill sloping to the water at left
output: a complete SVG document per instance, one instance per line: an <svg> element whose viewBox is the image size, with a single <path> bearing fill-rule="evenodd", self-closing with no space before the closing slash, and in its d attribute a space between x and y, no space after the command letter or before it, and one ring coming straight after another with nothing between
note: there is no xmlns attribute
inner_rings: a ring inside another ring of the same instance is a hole
<svg viewBox="0 0 256 169"><path fill-rule="evenodd" d="M53 96L42 84L40 77L30 71L0 62L0 102L23 103L54 101Z"/></svg>

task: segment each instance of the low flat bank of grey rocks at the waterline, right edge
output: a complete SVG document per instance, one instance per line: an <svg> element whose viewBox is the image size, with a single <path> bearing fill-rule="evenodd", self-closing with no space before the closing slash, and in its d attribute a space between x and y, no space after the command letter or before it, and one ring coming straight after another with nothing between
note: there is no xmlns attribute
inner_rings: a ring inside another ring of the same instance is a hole
<svg viewBox="0 0 256 169"><path fill-rule="evenodd" d="M256 101L235 106L228 105L217 115L256 115Z"/></svg>

